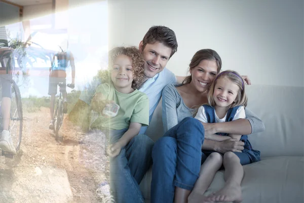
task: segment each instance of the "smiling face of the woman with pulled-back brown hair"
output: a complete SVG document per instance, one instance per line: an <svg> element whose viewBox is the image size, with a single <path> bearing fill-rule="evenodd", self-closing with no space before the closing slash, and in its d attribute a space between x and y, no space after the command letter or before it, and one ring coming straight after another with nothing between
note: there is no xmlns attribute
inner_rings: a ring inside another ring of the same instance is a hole
<svg viewBox="0 0 304 203"><path fill-rule="evenodd" d="M215 60L201 60L198 66L190 70L191 83L199 92L206 91L217 75L217 64Z"/></svg>

